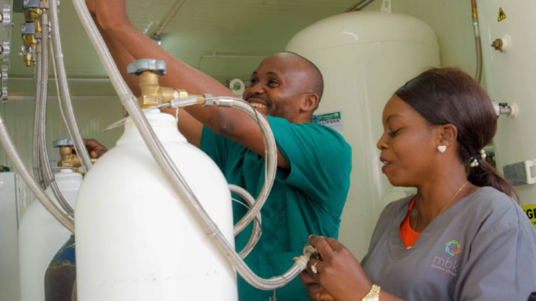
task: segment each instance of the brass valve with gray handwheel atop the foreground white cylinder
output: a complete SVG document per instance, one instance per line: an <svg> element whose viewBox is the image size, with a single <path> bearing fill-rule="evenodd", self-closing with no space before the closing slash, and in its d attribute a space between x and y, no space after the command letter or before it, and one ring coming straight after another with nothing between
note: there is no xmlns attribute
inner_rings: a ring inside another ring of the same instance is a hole
<svg viewBox="0 0 536 301"><path fill-rule="evenodd" d="M158 77L166 75L166 63L161 60L144 59L137 60L127 67L130 75L139 76L139 88L142 95L137 101L142 108L153 108L159 104L166 104L173 99L188 97L188 93L181 89L162 87ZM194 96L194 95L191 95Z"/></svg>

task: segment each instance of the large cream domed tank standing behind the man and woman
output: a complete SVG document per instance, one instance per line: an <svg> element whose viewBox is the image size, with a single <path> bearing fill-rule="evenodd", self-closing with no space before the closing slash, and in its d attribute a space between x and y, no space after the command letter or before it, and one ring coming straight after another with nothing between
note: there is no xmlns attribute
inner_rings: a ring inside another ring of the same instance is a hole
<svg viewBox="0 0 536 301"><path fill-rule="evenodd" d="M306 27L287 51L308 58L322 71L324 96L316 114L340 112L341 133L352 146L353 171L339 239L361 258L386 203L412 191L393 190L381 173L376 143L383 132L383 106L407 80L439 67L436 36L411 16L349 12Z"/></svg>

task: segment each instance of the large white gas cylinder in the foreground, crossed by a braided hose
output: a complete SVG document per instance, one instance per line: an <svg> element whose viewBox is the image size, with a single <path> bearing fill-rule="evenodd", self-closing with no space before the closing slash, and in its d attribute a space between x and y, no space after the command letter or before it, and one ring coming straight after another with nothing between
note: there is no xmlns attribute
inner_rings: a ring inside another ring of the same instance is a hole
<svg viewBox="0 0 536 301"><path fill-rule="evenodd" d="M151 125L203 208L234 245L230 190L174 117ZM79 301L237 300L236 273L198 226L129 118L85 176L76 204Z"/></svg>

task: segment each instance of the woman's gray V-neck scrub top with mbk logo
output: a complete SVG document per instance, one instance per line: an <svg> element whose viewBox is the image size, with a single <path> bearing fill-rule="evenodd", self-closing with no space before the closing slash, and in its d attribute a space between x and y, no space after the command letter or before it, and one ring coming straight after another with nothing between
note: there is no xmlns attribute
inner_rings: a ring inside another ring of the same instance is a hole
<svg viewBox="0 0 536 301"><path fill-rule="evenodd" d="M536 291L536 232L510 197L481 187L430 223L406 250L400 224L413 196L379 217L363 265L405 300L526 300Z"/></svg>

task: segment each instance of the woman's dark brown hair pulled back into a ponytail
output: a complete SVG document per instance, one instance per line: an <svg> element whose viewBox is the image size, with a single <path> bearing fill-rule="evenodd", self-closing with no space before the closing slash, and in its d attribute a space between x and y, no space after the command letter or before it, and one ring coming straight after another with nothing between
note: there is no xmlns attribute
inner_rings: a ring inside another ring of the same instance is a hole
<svg viewBox="0 0 536 301"><path fill-rule="evenodd" d="M492 186L509 196L509 182L480 158L480 149L491 142L497 130L497 115L487 93L467 73L454 68L429 69L394 93L429 123L450 123L458 130L458 156L462 163L478 160L467 179L476 186Z"/></svg>

